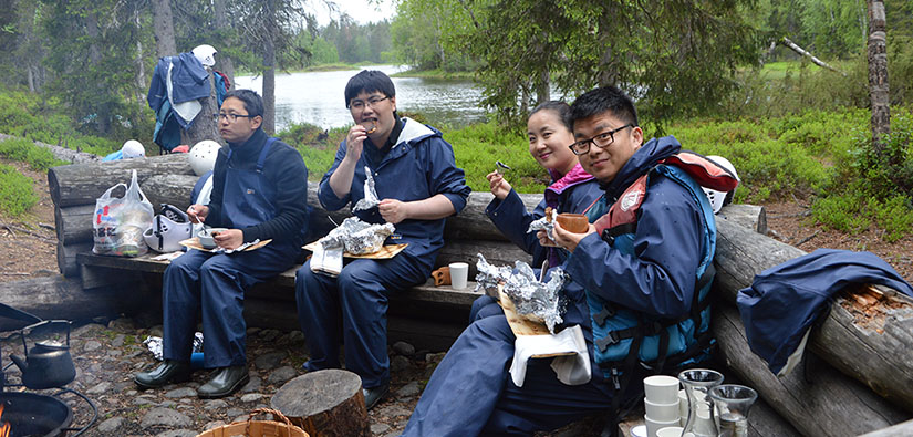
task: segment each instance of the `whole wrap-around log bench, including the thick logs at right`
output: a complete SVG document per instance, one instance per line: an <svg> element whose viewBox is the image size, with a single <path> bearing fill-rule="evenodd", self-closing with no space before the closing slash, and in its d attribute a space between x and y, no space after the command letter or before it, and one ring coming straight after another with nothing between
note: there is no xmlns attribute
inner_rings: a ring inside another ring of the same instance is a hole
<svg viewBox="0 0 913 437"><path fill-rule="evenodd" d="M137 169L141 185L154 205L168 202L186 208L189 204L190 189L197 178L190 171L185 155L79 164L54 167L49 171L51 196L55 205L60 270L70 278L79 279L85 292L96 289L111 290L112 287L118 288L122 292L157 290L160 287L157 281L160 281L162 272L166 267L163 262L152 261L149 257L127 259L100 257L90 252L92 244L90 217L95 198L112 185L128 180L129 170L134 168ZM317 205L315 193L317 186L312 183L309 185L309 200L314 207L311 216L312 240L331 229L331 219L340 222L349 216L347 210L328 212L321 209ZM541 198L539 195L522 197L529 207L536 205ZM496 264L512 264L515 260L529 260L529 256L506 241L485 216L485 206L490 199L491 195L488 193L474 193L469 197L466 209L459 216L447 220L444 236L445 247L439 252L437 267L455 261L468 262L471 267L470 278L473 278L476 253L483 253L489 262ZM755 273L803 253L764 236L767 230L766 221L762 209L758 207L729 206L718 217L725 219L717 220L719 239L715 262L718 281L715 285L715 293L724 300L732 301L732 296L740 288L750 284ZM294 269L291 269L252 290L248 294L245 308L246 319L250 325L297 329L298 322L294 306L292 306L293 293L291 292L293 282ZM133 284L143 287L133 288ZM388 319L390 340L411 341L419 348L444 350L448 347L468 322L469 305L478 295L471 292L473 285L470 283L469 290L455 291L426 283L392 293ZM888 321L891 326L906 325L911 319L907 316L907 310L913 305L909 301L901 303L903 306L892 312L896 319ZM157 305L158 302L155 304ZM733 308L729 306L730 310L726 312L726 305L732 305L732 303L722 303L720 313L732 314ZM834 376L827 385L847 387L844 391L815 391L793 384L792 381L801 378L798 374L793 375L789 383L784 384L785 389L778 388L777 384L767 384L762 379L772 377L772 375L764 368L762 364L741 363L735 360L755 356L748 352L745 339L737 334L740 321L732 316L720 316L720 323L716 329L720 345L724 346L726 363L736 370L744 381L755 386L779 415L789 419L803 434L844 435L850 429L852 433L861 433L883 428L909 418L911 405L909 399L913 397L906 389L907 384L885 387L879 383L883 378L873 381L871 377L874 375L865 375L865 372L860 372L859 367L849 368L853 366L845 365L848 361L852 361L852 353L848 353L842 347L834 347L834 345L850 344L860 340L852 339L854 336L852 329L844 330L850 331L847 334L829 327L830 319L842 318L841 314L847 312L839 308L839 303L833 305L833 310L822 329L812 334L810 350L840 371L833 373ZM843 326L853 326L851 319L841 322ZM728 333L727 326L733 326ZM889 331L888 327L890 326L885 326L885 331ZM824 341L824 337L831 333L833 337ZM888 343L893 342L906 346L913 343L913 341L902 340L894 342L893 337L885 337L891 340ZM900 339L902 335L898 334L896 337ZM868 342L868 346L879 344L878 340L873 339L863 339L863 342ZM895 354L885 352L889 348L883 346L876 348L880 352L874 355L879 360L890 362L894 368L902 370L895 372L895 377L891 381L905 382L904 377L910 375L907 372L913 372L913 365L906 360L910 348L904 347L903 352L896 351L899 353ZM839 358L834 358L836 356ZM871 365L879 360L873 360L872 354L867 354L861 360L857 356L854 364ZM884 375L882 372L879 374ZM855 378L862 384L849 384L848 377ZM878 395L872 392L872 388ZM784 396L805 398L813 403L816 408L798 414L797 408L784 402ZM869 407L852 407L851 414L842 407L860 403ZM843 422L833 420L837 415L853 417L858 426L850 427ZM827 426L803 426L808 423L827 424Z"/></svg>

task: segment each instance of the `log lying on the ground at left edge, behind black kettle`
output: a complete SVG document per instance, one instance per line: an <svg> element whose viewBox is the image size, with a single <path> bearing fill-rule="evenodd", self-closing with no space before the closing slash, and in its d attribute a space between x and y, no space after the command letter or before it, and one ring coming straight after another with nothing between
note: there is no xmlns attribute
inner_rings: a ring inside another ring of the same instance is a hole
<svg viewBox="0 0 913 437"><path fill-rule="evenodd" d="M147 302L160 302L158 293L143 285L128 289L103 288L85 291L79 280L61 275L0 282L0 301L41 319L90 320L144 310ZM17 321L0 319L0 330L22 327Z"/></svg>

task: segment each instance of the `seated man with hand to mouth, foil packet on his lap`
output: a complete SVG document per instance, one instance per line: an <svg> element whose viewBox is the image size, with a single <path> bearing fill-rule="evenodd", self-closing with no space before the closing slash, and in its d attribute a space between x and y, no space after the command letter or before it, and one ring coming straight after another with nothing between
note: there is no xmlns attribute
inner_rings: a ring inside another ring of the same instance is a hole
<svg viewBox="0 0 913 437"><path fill-rule="evenodd" d="M444 218L466 206L469 187L440 132L396 114L396 92L386 74L354 75L345 85L345 106L355 124L320 181L320 204L326 210L356 205L365 197L367 168L380 205L354 215L393 223L388 242L408 246L387 260L346 259L338 277L312 271L309 261L295 275L295 299L310 352L304 368L340 367L344 343L345 367L361 376L372 408L390 384L388 295L428 278L444 246Z"/></svg>

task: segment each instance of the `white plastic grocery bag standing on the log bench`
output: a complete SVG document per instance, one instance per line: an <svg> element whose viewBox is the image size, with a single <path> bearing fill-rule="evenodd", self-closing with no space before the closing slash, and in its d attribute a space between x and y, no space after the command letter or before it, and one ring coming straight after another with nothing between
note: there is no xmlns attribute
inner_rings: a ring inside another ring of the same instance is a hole
<svg viewBox="0 0 913 437"><path fill-rule="evenodd" d="M112 197L118 187L124 187L124 197ZM143 239L143 231L152 226L153 208L136 181L133 170L129 187L117 184L95 200L92 228L95 243L92 252L117 257L138 257L149 248Z"/></svg>

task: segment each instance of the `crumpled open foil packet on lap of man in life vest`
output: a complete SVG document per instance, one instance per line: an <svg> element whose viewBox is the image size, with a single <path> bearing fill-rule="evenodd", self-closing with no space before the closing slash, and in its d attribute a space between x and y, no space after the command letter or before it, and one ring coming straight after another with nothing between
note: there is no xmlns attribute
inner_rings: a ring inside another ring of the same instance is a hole
<svg viewBox="0 0 913 437"><path fill-rule="evenodd" d="M479 253L476 262L476 291L485 290L490 296L498 296L498 285L507 294L517 313L523 318L541 321L554 333L554 326L563 321L567 302L561 295L567 274L557 267L552 269L548 282L539 282L529 264L516 261L513 268L489 264ZM496 298L497 299L497 298Z"/></svg>

